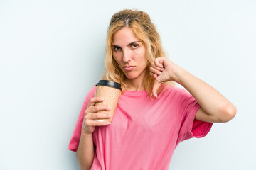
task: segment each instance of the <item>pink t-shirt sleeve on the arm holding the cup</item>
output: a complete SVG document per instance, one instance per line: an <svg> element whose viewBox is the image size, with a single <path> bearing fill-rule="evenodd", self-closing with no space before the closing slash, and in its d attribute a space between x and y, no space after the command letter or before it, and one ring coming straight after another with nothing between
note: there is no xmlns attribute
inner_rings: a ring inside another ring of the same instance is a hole
<svg viewBox="0 0 256 170"><path fill-rule="evenodd" d="M95 96L95 90L96 90L96 87L92 88L89 91L89 93L85 97L85 101L82 104L82 109L81 109L80 114L78 116L77 123L75 124L75 130L73 131L73 135L72 135L70 143L68 145L68 149L73 151L73 152L76 152L76 150L78 149L80 136L81 136L81 130L82 130L82 122L83 122L83 119L85 117L85 110L86 110L87 105L90 101L90 98Z"/></svg>

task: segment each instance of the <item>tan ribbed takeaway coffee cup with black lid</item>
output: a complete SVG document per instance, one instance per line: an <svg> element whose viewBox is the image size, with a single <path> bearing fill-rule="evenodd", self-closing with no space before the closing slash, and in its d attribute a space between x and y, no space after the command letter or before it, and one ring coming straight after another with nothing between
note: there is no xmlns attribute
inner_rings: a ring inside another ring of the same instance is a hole
<svg viewBox="0 0 256 170"><path fill-rule="evenodd" d="M95 103L95 106L107 105L111 107L110 111L98 111L97 113L109 113L112 115L110 119L97 119L97 121L111 122L117 107L118 98L121 96L121 84L109 80L100 80L96 86L95 96L104 98L104 101Z"/></svg>

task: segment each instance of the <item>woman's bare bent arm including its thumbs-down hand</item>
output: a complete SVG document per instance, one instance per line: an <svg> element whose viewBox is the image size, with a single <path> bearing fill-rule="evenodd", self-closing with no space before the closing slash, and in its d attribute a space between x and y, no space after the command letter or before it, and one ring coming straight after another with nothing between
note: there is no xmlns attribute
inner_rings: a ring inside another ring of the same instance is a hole
<svg viewBox="0 0 256 170"><path fill-rule="evenodd" d="M235 106L212 86L201 81L174 64L166 57L157 58L150 69L151 76L156 78L153 91L166 81L176 81L192 94L200 104L196 120L205 122L227 122L236 114ZM154 96L157 96L154 93Z"/></svg>

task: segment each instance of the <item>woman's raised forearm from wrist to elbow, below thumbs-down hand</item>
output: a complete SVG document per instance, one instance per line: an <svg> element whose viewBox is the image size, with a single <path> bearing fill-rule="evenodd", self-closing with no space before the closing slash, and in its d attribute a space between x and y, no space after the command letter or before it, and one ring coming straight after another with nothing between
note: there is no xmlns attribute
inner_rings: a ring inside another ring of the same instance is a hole
<svg viewBox="0 0 256 170"><path fill-rule="evenodd" d="M196 98L203 111L215 118L233 114L235 106L227 98L185 69L176 67L176 81Z"/></svg>

